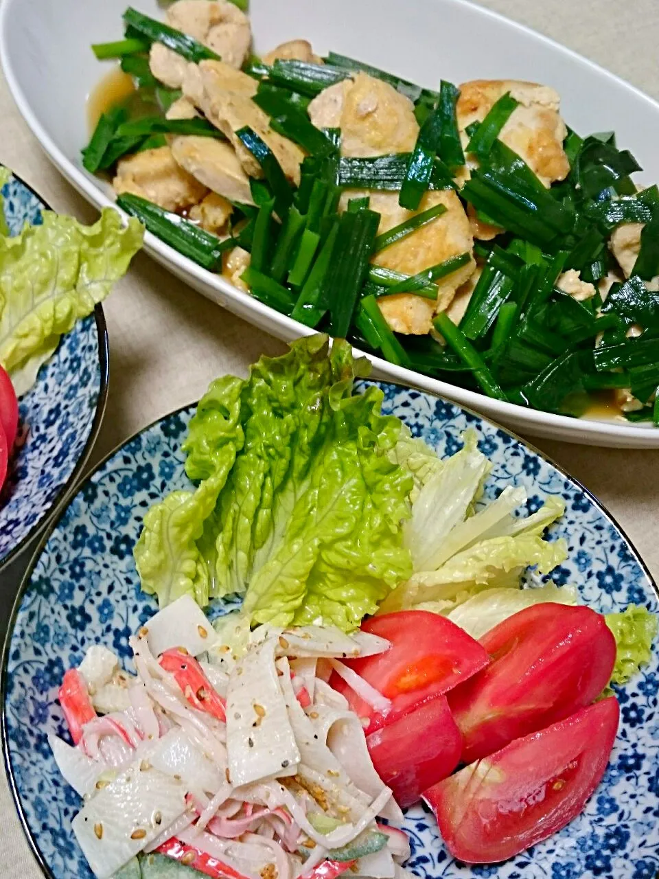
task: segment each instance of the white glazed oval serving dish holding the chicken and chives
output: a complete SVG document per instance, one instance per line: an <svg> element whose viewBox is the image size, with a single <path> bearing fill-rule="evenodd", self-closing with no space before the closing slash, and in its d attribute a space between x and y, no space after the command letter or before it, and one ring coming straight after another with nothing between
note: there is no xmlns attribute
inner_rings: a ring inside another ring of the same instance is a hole
<svg viewBox="0 0 659 879"><path fill-rule="evenodd" d="M18 109L54 164L98 207L111 204L112 193L80 163L80 149L89 139L86 98L105 72L90 46L119 39L128 4L4 0L0 9L0 58ZM162 18L156 0L132 4ZM440 77L456 83L492 77L553 85L571 127L587 134L615 130L619 144L643 165L644 178L659 179L655 101L552 40L464 0L252 0L251 18L257 48L303 36L321 53L334 49L431 87ZM156 237L147 235L146 247L177 277L262 330L286 341L311 332ZM659 448L659 430L652 427L528 410L379 358L373 364L382 377L450 397L521 432L597 446Z"/></svg>

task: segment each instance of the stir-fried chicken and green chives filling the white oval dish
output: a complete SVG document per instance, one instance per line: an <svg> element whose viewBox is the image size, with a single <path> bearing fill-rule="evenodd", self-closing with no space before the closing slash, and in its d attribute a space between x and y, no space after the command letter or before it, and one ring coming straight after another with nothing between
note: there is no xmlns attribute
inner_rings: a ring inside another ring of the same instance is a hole
<svg viewBox="0 0 659 879"><path fill-rule="evenodd" d="M126 39L94 47L129 95L83 164L124 210L398 366L659 424L659 191L612 133L569 130L548 85L433 91L301 39L259 58L228 0L164 15L128 9Z"/></svg>

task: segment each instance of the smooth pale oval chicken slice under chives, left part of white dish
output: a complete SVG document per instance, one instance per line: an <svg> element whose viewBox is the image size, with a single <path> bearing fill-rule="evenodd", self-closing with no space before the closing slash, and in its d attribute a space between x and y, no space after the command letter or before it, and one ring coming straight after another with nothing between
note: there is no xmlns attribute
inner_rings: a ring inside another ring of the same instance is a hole
<svg viewBox="0 0 659 879"><path fill-rule="evenodd" d="M181 168L214 193L229 201L253 205L250 178L226 141L185 134L170 140L172 155ZM207 191L207 190L206 190Z"/></svg>

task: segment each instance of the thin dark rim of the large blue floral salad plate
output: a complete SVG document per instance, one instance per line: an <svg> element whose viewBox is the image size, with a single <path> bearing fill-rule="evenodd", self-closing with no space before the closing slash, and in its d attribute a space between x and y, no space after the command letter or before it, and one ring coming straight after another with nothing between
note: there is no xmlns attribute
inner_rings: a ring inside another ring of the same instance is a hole
<svg viewBox="0 0 659 879"><path fill-rule="evenodd" d="M586 486L583 485L583 483L581 483L576 478L576 476L571 476L568 473L568 471L565 468L563 468L560 463L558 463L557 461L554 461L554 459L550 455L542 452L539 448L536 448L535 446L533 446L533 444L528 442L526 439L519 437L517 433L511 431L508 427L504 427L503 425L497 424L496 421L492 421L491 418L486 418L485 416L480 415L478 412L475 412L474 410L469 409L467 406L461 406L459 403L454 403L453 400L447 400L438 394L432 394L430 391L420 391L419 392L416 388L409 387L408 385L403 385L397 381L382 381L380 379L373 380L371 378L367 378L366 381L374 382L375 384L378 384L378 385L382 385L382 384L393 385L396 388L402 389L404 391L414 391L416 393L423 393L423 394L426 394L427 396L435 397L439 401L450 403L452 406L455 406L458 409L467 412L469 415L473 416L474 418L478 418L480 421L487 422L490 426L496 428L496 430L500 430L500 431L503 431L504 433L508 433L509 436L511 436L513 439L516 439L518 441L518 443L521 443L521 445L523 447L527 448L533 454L540 457L540 459L542 461L545 461L551 467L554 467L554 469L556 469L561 474L561 476L564 476L565 478L567 478L570 483L573 483L579 490L583 491L583 494L586 495L586 497L589 498L590 502L597 507L597 510L605 517L605 519L608 519L608 521L612 524L612 526L618 530L618 532L622 536L623 540L626 541L626 545L629 548L631 555L634 557L634 560L639 564L641 570L643 571L646 578L648 579L648 583L650 585L650 588L655 592L656 597L659 599L659 584L657 583L657 581L655 580L651 571L649 570L648 565L643 561L641 554L634 546L633 541L631 541L629 539L629 537L627 536L625 529L619 525L618 520L612 515L611 512L609 512L607 510L605 505L603 505L601 503L601 501L599 501L597 499L597 497L592 493L592 491L590 491L590 489L586 488ZM172 416L175 416L180 412L183 412L185 410L190 410L190 409L196 407L198 405L198 403L199 403L199 401L187 403L184 406L179 406L175 410L171 410L170 412L166 412L164 415L160 416L159 418L155 418L148 425L141 427L139 430L135 431L133 434L131 434L131 436L129 436L123 442L119 443L117 446L112 448L112 451L105 454L105 456L100 461L98 461L98 463L90 470L90 472L85 476L85 478L77 486L76 495L68 498L69 504L73 500L74 497L77 497L77 494L83 489L83 486L86 483L88 483L91 480L91 478L98 473L98 471L100 469L105 467L105 464L108 461L110 461L114 457L115 454L118 454L122 448L126 447L129 443L133 442L134 439L141 436L143 433L147 432L152 427L155 427L156 425L160 424L166 418L171 418ZM10 647L11 647L11 637L13 636L14 628L16 627L16 620L17 620L17 616L18 616L18 611L20 609L22 599L25 595L25 592L27 592L27 589L30 585L33 571L34 571L34 569L40 559L40 556L42 555L44 549L46 548L47 542L50 540L52 534L54 533L55 528L59 525L60 520L62 519L67 508L68 508L68 505L62 505L62 508L60 510L58 510L58 515L57 515L56 519L52 519L50 521L46 531L41 536L41 539L39 541L38 546L34 549L33 556L30 559L30 563L28 564L27 568L25 569L25 574L23 575L23 578L21 579L20 585L18 586L18 592L16 594L16 598L14 599L13 605L11 607L11 615L9 618L9 622L7 624L7 631L4 636L2 658L0 659L0 737L2 738L4 774L5 774L5 778L7 780L7 784L10 788L10 791L11 791L11 799L14 804L14 809L16 810L16 813L18 815L18 821L19 821L21 828L23 830L23 833L25 835L25 839L27 841L27 844L30 848L31 853L33 854L34 860L37 862L41 872L43 873L44 876L47 877L47 879L55 879L55 876L54 876L54 873L52 872L52 870L50 869L50 867L48 866L48 864L45 860L45 857L42 854L40 847L38 846L37 841L33 836L33 832L32 832L32 829L30 828L27 817L25 816L25 810L23 809L23 805L21 803L21 798L18 793L18 784L16 782L13 767L11 765L9 730L8 730L7 711L6 711L6 707L7 707L6 697L7 697L7 685L8 685L8 680L9 680L9 652L10 652ZM659 646L656 648L656 650L659 650Z"/></svg>

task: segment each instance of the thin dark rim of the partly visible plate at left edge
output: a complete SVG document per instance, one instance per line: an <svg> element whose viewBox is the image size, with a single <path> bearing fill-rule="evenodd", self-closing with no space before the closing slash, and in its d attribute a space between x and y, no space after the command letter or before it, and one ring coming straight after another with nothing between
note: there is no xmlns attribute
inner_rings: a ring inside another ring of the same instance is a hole
<svg viewBox="0 0 659 879"><path fill-rule="evenodd" d="M11 168L9 169L11 171ZM50 207L47 200L43 198L31 186L27 181L20 177L19 174L15 173L15 171L11 171L11 176L18 181L21 186L24 186L25 189L32 193L35 199L38 199L40 203L43 205L43 209L47 211L52 211L53 208ZM18 558L24 551L27 545L33 541L34 537L40 533L42 529L48 528L54 517L60 512L62 505L66 504L67 500L71 493L76 489L76 485L78 480L82 474L83 469L86 467L87 462L90 460L90 455L93 450L93 447L96 445L96 440L98 439L98 432L100 432L101 425L103 423L103 418L105 416L105 407L107 406L107 396L110 386L110 340L107 332L107 323L105 321L105 312L103 310L103 306L98 303L98 305L94 306L94 319L96 321L96 332L98 336L98 367L100 369L100 388L98 389L98 400L96 403L96 411L94 412L94 418L91 422L91 431L90 435L87 438L87 442L84 444L84 448L82 454L76 461L76 465L74 469L71 471L69 478L62 484L60 489L55 494L53 500L51 501L50 507L46 512L38 519L33 527L25 534L16 544L15 547L12 547L6 556L0 558L0 574L4 572L8 568L8 566Z"/></svg>

